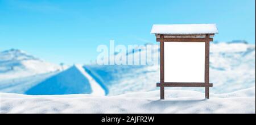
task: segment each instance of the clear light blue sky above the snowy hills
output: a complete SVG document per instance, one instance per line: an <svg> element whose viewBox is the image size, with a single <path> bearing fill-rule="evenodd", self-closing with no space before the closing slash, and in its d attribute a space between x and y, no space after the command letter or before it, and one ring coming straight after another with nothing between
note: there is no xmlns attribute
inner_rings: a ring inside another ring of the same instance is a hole
<svg viewBox="0 0 256 125"><path fill-rule="evenodd" d="M255 0L0 0L0 51L65 64L95 60L100 44L155 43L152 24L216 23L217 41L255 44Z"/></svg>

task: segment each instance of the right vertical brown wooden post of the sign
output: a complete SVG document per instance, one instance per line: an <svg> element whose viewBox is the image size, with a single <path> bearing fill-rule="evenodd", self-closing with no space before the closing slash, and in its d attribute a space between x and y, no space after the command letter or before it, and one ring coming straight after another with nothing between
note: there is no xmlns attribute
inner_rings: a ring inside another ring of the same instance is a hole
<svg viewBox="0 0 256 125"><path fill-rule="evenodd" d="M205 35L205 37L207 39L210 38L210 35L207 34ZM209 51L210 51L210 41L206 40L205 41L205 66L204 66L204 82L205 84L209 84L209 59L210 59L210 55L209 55ZM205 85L205 98L209 99L209 86Z"/></svg>

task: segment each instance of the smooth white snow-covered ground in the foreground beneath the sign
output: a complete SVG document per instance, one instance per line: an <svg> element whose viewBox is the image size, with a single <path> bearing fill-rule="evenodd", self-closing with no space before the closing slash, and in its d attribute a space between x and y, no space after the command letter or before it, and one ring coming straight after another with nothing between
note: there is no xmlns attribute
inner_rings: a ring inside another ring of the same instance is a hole
<svg viewBox="0 0 256 125"><path fill-rule="evenodd" d="M227 94L167 90L111 97L0 93L0 113L255 113L255 87Z"/></svg>

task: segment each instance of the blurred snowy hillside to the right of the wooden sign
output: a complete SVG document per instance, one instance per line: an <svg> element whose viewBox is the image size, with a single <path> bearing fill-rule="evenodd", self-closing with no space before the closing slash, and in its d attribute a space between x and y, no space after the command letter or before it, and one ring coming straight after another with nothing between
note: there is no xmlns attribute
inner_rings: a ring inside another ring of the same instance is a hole
<svg viewBox="0 0 256 125"><path fill-rule="evenodd" d="M243 41L212 44L210 81L218 93L255 86L255 45Z"/></svg>

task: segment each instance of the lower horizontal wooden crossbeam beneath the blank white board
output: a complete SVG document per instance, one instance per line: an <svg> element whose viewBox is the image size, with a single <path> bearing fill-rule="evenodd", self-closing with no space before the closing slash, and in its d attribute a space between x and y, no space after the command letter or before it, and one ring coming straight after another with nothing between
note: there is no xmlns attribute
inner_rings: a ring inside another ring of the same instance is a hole
<svg viewBox="0 0 256 125"><path fill-rule="evenodd" d="M164 82L156 84L157 87L213 87L213 84L203 82Z"/></svg>

